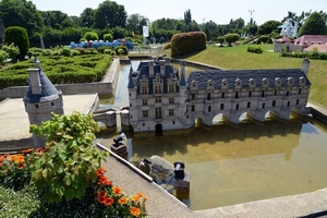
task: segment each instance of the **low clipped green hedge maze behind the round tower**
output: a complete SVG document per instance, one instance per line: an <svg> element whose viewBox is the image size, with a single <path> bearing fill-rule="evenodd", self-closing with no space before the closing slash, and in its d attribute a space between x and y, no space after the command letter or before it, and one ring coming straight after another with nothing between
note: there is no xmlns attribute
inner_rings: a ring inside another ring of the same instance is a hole
<svg viewBox="0 0 327 218"><path fill-rule="evenodd" d="M43 71L53 84L99 82L112 62L109 55L40 56L39 60ZM1 69L0 89L28 85L27 69L29 68L33 68L32 59Z"/></svg>

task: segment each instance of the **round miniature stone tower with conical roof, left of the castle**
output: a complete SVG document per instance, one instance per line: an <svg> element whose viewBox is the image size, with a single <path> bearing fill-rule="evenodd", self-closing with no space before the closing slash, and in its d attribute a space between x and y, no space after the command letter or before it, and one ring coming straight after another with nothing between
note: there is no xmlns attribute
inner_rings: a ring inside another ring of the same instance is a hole
<svg viewBox="0 0 327 218"><path fill-rule="evenodd" d="M25 111L31 124L39 125L52 118L51 112L63 114L62 93L58 90L43 72L39 61L35 58L34 69L27 70L28 89L23 98ZM45 138L33 135L35 147L43 147Z"/></svg>

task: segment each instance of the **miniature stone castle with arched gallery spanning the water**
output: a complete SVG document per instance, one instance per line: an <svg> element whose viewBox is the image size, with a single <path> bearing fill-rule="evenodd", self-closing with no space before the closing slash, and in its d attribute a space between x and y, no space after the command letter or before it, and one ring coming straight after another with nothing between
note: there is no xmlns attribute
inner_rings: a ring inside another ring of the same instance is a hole
<svg viewBox="0 0 327 218"><path fill-rule="evenodd" d="M310 61L302 69L206 70L185 77L170 59L143 61L129 78L130 124L134 132L182 130L195 120L210 126L217 114L238 124L242 113L263 122L267 112L288 120L306 114Z"/></svg>

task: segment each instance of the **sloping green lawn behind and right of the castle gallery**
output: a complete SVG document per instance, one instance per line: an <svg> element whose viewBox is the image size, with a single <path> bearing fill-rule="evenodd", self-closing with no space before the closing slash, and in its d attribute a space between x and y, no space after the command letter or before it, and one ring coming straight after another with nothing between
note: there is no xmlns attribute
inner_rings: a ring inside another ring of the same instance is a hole
<svg viewBox="0 0 327 218"><path fill-rule="evenodd" d="M256 46L256 45L253 45ZM207 63L227 70L242 69L301 69L303 59L282 58L272 52L274 45L262 45L261 55L246 51L247 46L208 46L206 50L185 58L190 61ZM308 80L312 83L310 101L327 108L327 61L311 60Z"/></svg>

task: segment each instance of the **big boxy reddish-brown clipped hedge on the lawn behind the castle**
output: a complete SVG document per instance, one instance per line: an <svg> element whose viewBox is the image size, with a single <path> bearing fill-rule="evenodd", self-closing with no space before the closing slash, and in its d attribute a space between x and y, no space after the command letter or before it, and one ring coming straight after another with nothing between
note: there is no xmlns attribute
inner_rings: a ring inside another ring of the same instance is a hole
<svg viewBox="0 0 327 218"><path fill-rule="evenodd" d="M175 34L171 38L171 57L181 57L204 50L206 43L207 38L204 32Z"/></svg>

